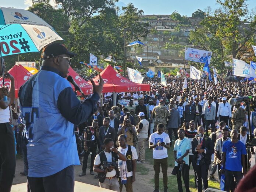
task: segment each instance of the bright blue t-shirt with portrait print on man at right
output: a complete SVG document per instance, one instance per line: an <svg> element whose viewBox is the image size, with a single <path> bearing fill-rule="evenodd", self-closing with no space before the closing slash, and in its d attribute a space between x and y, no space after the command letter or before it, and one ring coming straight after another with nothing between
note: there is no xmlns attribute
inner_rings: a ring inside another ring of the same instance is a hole
<svg viewBox="0 0 256 192"><path fill-rule="evenodd" d="M229 171L242 171L242 154L247 154L245 145L241 141L232 143L229 140L223 144L222 151L226 153L225 169Z"/></svg>

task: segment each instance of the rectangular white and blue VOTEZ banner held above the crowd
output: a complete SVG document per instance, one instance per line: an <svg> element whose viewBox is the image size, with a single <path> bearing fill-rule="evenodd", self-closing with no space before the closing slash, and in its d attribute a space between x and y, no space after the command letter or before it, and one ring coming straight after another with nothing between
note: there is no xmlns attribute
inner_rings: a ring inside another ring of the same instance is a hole
<svg viewBox="0 0 256 192"><path fill-rule="evenodd" d="M206 61L208 61L208 64L210 65L211 54L212 54L211 51L186 47L185 60L195 61L195 62L199 62L199 63L206 63Z"/></svg>

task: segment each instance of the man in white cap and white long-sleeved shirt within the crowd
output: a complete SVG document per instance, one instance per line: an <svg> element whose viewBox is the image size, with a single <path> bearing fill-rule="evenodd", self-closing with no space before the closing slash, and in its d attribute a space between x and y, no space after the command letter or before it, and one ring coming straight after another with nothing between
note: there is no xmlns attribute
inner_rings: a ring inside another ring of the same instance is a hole
<svg viewBox="0 0 256 192"><path fill-rule="evenodd" d="M226 97L222 98L222 103L219 104L217 118L220 121L224 121L228 125L228 120L231 120L231 106L227 103Z"/></svg>

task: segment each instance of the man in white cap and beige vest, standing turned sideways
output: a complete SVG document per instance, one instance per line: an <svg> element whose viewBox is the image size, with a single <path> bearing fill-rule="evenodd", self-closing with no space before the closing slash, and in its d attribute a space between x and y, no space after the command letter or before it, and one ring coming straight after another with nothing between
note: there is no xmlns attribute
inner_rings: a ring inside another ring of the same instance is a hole
<svg viewBox="0 0 256 192"><path fill-rule="evenodd" d="M149 130L149 121L145 119L145 114L139 112L139 119L141 120L135 127L137 131L139 155L136 160L138 163L145 163L145 142L147 140L147 134Z"/></svg>

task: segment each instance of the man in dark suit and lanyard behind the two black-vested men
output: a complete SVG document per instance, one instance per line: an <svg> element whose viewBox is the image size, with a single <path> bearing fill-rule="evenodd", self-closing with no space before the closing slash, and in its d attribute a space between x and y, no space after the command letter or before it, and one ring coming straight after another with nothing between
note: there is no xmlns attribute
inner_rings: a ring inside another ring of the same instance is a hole
<svg viewBox="0 0 256 192"><path fill-rule="evenodd" d="M115 129L110 127L110 118L105 117L103 120L103 126L100 127L99 131L99 141L100 141L100 151L104 150L104 139L111 138L113 141L115 140Z"/></svg>

